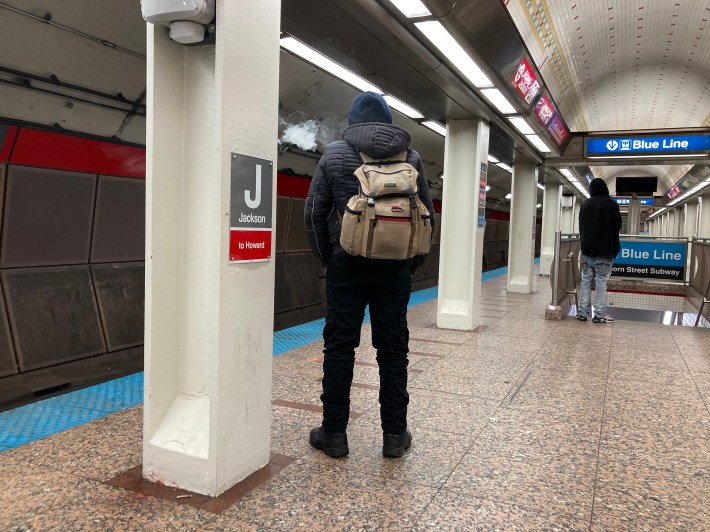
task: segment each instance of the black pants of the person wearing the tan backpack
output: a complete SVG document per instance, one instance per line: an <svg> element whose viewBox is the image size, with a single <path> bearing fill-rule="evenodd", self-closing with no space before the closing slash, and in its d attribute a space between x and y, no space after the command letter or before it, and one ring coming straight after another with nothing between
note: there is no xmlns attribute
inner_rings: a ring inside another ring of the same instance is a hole
<svg viewBox="0 0 710 532"><path fill-rule="evenodd" d="M380 368L380 416L386 434L407 429L407 304L412 260L374 260L338 253L328 262L328 314L323 329L323 428L345 432L355 348L370 304L372 344Z"/></svg>

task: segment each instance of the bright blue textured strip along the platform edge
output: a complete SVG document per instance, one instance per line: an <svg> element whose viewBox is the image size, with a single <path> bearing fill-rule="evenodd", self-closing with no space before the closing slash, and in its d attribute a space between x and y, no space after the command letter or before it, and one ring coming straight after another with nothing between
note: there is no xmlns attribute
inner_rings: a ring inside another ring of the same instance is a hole
<svg viewBox="0 0 710 532"><path fill-rule="evenodd" d="M539 259L535 259L536 262ZM508 268L484 272L490 281L508 273ZM438 288L413 292L409 306L436 299ZM366 313L365 320L369 321ZM274 356L322 338L324 320L318 319L274 333ZM102 382L81 390L50 397L0 412L0 453L26 443L106 417L143 402L143 372Z"/></svg>

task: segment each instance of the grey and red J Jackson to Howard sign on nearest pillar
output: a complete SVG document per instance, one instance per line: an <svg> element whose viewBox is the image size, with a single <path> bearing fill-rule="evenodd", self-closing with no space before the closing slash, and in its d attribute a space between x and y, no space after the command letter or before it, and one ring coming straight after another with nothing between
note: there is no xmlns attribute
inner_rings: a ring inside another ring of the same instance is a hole
<svg viewBox="0 0 710 532"><path fill-rule="evenodd" d="M232 153L229 262L271 260L272 161Z"/></svg>

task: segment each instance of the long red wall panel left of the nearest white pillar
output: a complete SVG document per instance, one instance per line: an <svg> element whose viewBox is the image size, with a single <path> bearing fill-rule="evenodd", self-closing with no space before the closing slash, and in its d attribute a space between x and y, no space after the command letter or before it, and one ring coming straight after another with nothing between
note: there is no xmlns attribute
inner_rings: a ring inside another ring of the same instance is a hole
<svg viewBox="0 0 710 532"><path fill-rule="evenodd" d="M14 164L145 179L145 149L21 128Z"/></svg>

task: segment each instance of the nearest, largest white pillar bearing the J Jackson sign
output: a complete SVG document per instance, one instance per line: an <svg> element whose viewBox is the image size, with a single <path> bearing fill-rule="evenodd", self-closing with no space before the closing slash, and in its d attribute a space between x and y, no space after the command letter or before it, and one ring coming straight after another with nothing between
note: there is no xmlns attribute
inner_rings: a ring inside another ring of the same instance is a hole
<svg viewBox="0 0 710 532"><path fill-rule="evenodd" d="M230 191L232 153L276 161L280 9L217 0L216 45L148 25L143 476L210 496L269 462L274 261L230 264Z"/></svg>

